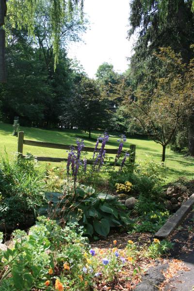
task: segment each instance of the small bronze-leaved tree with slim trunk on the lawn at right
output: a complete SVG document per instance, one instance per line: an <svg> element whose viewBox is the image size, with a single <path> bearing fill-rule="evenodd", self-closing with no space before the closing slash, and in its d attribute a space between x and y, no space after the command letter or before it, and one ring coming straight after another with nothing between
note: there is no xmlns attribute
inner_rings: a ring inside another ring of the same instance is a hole
<svg viewBox="0 0 194 291"><path fill-rule="evenodd" d="M166 77L156 80L156 89L150 95L147 84L138 87L134 96L127 97L125 112L134 118L147 135L162 145L162 162L178 125L193 113L194 60L182 62L170 48L162 48L156 57L166 66Z"/></svg>

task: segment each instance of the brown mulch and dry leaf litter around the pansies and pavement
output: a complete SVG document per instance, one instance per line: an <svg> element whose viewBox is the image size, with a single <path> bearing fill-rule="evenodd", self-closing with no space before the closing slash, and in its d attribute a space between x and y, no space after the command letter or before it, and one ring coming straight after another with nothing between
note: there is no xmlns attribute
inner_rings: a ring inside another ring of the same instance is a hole
<svg viewBox="0 0 194 291"><path fill-rule="evenodd" d="M97 252L103 250L105 253L113 248L113 240L117 241L117 248L119 251L125 251L125 247L129 240L136 242L139 246L146 245L153 240L153 235L150 233L112 233L108 238L104 240L99 240L97 242L91 243L91 247L96 249ZM157 268L159 265L166 265L168 264L169 267L165 272L164 275L164 283L161 286L157 286L157 290L164 291L166 284L168 284L169 280L174 277L179 270L186 270L184 263L178 259L169 259L168 256L166 258L161 259L146 259L144 257L139 257L134 265L130 262L127 263L123 268L122 271L117 275L115 280L111 283L105 283L103 281L96 282L96 291L133 291L138 286L138 284L142 280L142 275L145 274L145 270L151 268ZM138 272L137 275L133 275L133 270L141 268L141 274ZM144 276L143 276L144 277ZM156 281L157 283L157 281ZM153 288L156 286L153 285ZM152 290L152 289L150 289ZM155 290L155 289L153 289Z"/></svg>

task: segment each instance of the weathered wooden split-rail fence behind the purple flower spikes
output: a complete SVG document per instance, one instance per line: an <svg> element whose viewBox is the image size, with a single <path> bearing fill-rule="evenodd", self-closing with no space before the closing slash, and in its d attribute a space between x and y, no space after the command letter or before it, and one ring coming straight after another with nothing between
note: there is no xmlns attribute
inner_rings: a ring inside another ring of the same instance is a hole
<svg viewBox="0 0 194 291"><path fill-rule="evenodd" d="M18 143L17 143L17 153L18 158L25 158L26 156L23 155L23 146L41 146L41 147L49 147L49 148L57 148L57 149L70 149L70 145L62 145L62 144L53 144L53 143L45 143L45 142L37 142L37 141L31 141L24 139L24 132L20 131L18 132ZM74 146L75 149L77 149L77 146ZM129 153L129 161L131 163L135 162L135 145L130 145L127 152ZM84 152L94 152L93 147L87 147L84 146L83 148ZM114 154L116 155L117 149L114 148L106 148L106 154ZM38 161L43 162L66 162L67 158L52 158L52 157L37 157L34 156ZM87 160L88 164L93 164L93 160ZM106 162L107 165L113 166L114 162ZM116 164L116 166L120 166L119 163Z"/></svg>

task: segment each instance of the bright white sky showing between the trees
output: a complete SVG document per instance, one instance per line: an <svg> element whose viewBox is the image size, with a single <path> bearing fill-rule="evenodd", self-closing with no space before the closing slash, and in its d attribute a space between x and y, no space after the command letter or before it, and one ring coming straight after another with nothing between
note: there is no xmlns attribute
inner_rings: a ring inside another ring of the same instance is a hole
<svg viewBox="0 0 194 291"><path fill-rule="evenodd" d="M124 72L134 42L134 38L126 39L129 0L84 0L84 12L89 18L90 29L83 35L83 42L69 45L68 57L80 61L90 78L95 77L103 62Z"/></svg>

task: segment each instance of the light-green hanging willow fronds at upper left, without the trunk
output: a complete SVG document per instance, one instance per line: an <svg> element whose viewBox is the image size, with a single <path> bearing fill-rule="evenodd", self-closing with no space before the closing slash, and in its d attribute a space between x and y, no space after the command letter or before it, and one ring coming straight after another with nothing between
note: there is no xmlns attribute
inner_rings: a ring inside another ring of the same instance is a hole
<svg viewBox="0 0 194 291"><path fill-rule="evenodd" d="M11 27L17 29L27 29L29 34L35 36L36 29L34 22L36 21L36 16L40 11L40 7L43 5L46 7L45 10L48 12L47 18L49 18L49 30L52 35L50 41L55 54L56 66L59 61L61 34L64 29L65 20L71 20L74 15L79 16L79 11L81 11L80 16L82 18L83 0L10 0L7 3L7 15L9 16Z"/></svg>

